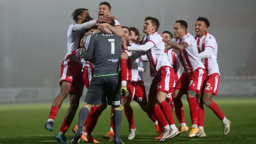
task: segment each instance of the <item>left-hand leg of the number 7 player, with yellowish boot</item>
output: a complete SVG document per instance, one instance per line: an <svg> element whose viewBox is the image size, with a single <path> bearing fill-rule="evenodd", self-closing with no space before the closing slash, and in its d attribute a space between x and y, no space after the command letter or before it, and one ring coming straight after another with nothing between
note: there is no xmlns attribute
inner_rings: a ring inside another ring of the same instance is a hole
<svg viewBox="0 0 256 144"><path fill-rule="evenodd" d="M174 94L172 96L173 102L174 102L174 112L176 114L176 117L179 122L179 132L180 134L183 132L188 132L188 126L185 122L185 116L184 116L184 106L181 101L182 96L185 94L185 91L187 91L187 85L186 85L186 76L185 74L182 74L182 76L179 78L178 82L176 83Z"/></svg>

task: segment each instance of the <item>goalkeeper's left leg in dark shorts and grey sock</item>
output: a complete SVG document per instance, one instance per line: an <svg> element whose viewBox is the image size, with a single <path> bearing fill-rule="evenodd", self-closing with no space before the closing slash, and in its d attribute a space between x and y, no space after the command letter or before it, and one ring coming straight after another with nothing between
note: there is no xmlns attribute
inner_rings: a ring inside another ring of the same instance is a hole
<svg viewBox="0 0 256 144"><path fill-rule="evenodd" d="M100 105L100 101L102 99L102 96L104 95L104 90L103 90L104 86L105 86L105 83L104 83L104 80L102 80L102 77L92 78L92 82L90 83L90 86L88 88L88 91L84 100L84 106L79 112L78 130L73 140L71 141L72 144L78 144L78 141L82 136L84 123L86 121L86 118L88 117L88 114L92 108L92 105Z"/></svg>

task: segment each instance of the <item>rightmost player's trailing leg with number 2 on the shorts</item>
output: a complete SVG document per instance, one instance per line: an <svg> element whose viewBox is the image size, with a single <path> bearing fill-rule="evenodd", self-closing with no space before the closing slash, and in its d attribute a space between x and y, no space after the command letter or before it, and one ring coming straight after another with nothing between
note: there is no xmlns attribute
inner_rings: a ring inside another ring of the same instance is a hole
<svg viewBox="0 0 256 144"><path fill-rule="evenodd" d="M210 108L216 114L216 116L220 120L222 120L223 134L226 135L228 134L228 132L230 132L231 122L225 117L222 110L220 110L219 106L212 100L212 96L218 94L219 82L220 82L219 74L216 73L208 76L208 79L206 80L206 86L204 89L203 102L208 108Z"/></svg>

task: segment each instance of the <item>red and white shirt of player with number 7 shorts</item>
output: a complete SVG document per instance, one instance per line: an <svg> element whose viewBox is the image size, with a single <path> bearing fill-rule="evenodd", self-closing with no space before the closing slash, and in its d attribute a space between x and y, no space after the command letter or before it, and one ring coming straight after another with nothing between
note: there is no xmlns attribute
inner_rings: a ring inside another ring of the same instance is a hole
<svg viewBox="0 0 256 144"><path fill-rule="evenodd" d="M178 44L182 42L186 42L188 44L187 48L178 52L178 57L182 66L184 67L184 73L190 73L197 68L204 69L204 64L202 63L198 54L196 40L191 34L187 32L182 40L178 38L173 38L172 41Z"/></svg>

